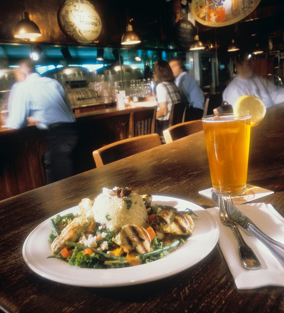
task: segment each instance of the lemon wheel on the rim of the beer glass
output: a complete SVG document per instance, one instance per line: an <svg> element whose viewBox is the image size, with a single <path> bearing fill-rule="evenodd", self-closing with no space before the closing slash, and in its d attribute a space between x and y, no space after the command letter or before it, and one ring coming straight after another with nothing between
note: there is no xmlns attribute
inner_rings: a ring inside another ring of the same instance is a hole
<svg viewBox="0 0 284 313"><path fill-rule="evenodd" d="M250 126L258 125L264 118L266 106L259 97L244 95L234 104L234 116L251 114Z"/></svg>

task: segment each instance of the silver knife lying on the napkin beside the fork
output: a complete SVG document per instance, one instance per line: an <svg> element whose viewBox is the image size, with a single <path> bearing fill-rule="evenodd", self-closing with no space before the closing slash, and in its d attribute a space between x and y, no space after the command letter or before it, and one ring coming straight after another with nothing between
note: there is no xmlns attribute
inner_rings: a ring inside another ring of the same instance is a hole
<svg viewBox="0 0 284 313"><path fill-rule="evenodd" d="M219 196L214 191L212 192L212 200L218 207ZM229 217L238 223L242 228L245 228L257 239L259 239L284 267L284 245L263 233L249 218L245 216L245 214L240 212L233 204L229 203L228 201L225 201L225 204Z"/></svg>

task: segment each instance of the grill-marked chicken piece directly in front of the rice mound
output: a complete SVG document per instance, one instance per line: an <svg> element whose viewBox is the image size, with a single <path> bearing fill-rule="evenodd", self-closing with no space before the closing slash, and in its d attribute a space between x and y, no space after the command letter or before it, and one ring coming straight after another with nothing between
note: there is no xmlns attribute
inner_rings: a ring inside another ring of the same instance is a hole
<svg viewBox="0 0 284 313"><path fill-rule="evenodd" d="M119 232L120 247L124 252L134 249L140 254L150 252L151 239L145 228L139 225L125 225Z"/></svg>

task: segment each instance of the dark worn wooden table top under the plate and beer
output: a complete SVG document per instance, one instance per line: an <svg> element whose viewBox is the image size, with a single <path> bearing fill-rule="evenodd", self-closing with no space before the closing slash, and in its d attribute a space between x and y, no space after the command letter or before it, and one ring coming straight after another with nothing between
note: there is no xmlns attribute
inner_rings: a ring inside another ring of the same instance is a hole
<svg viewBox="0 0 284 313"><path fill-rule="evenodd" d="M248 182L274 191L256 202L284 215L284 104L251 129ZM211 186L203 132L0 202L0 308L9 312L283 312L284 288L238 290L218 247L174 276L128 287L83 288L35 274L22 256L39 223L94 198L103 187L182 198L213 207L198 191ZM173 264L175 266L175 264ZM138 269L138 268L137 268Z"/></svg>

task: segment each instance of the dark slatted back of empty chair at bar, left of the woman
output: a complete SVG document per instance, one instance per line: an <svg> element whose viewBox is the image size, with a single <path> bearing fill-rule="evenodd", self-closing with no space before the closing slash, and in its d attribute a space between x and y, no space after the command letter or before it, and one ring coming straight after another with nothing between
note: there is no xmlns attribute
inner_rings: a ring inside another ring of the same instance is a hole
<svg viewBox="0 0 284 313"><path fill-rule="evenodd" d="M155 133L156 107L132 112L129 120L129 138Z"/></svg>

